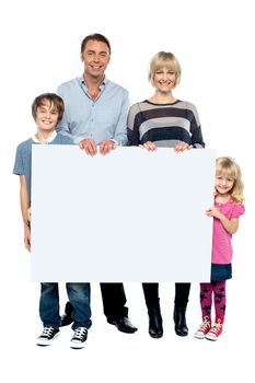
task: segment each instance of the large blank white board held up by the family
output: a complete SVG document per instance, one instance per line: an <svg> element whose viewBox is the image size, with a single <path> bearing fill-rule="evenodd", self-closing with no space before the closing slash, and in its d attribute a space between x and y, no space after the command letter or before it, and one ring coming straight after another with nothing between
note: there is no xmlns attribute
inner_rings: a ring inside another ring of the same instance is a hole
<svg viewBox="0 0 255 383"><path fill-rule="evenodd" d="M216 151L33 146L33 281L209 281Z"/></svg>

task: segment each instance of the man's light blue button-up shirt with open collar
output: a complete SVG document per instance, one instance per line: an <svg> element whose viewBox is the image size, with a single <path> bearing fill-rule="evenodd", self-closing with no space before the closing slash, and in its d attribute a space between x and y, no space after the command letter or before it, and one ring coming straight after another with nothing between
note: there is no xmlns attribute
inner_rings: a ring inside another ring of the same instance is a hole
<svg viewBox="0 0 255 383"><path fill-rule="evenodd" d="M112 139L119 146L126 146L128 92L107 79L100 89L98 96L92 100L82 77L58 86L57 93L65 102L65 114L57 131L71 137L76 143L93 139L100 144Z"/></svg>

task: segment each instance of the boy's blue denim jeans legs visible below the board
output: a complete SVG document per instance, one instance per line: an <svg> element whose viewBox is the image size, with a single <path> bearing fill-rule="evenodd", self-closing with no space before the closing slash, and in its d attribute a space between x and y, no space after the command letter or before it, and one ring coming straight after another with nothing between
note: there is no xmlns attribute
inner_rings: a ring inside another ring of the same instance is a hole
<svg viewBox="0 0 255 383"><path fill-rule="evenodd" d="M89 329L92 325L89 283L66 283L66 288L68 299L73 306L72 329L78 327ZM39 316L44 327L60 326L58 283L40 283Z"/></svg>

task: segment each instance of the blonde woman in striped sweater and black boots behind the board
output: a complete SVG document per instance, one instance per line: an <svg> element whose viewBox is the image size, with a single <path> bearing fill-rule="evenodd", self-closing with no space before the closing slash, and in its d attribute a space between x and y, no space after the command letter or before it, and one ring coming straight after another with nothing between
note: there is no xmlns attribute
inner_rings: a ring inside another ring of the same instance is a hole
<svg viewBox="0 0 255 383"><path fill-rule="evenodd" d="M205 148L196 107L177 100L172 94L179 83L181 66L171 53L160 51L150 61L149 81L154 88L152 97L130 107L128 115L129 146L143 146L154 151L158 147L174 148L183 152L192 148ZM142 283L149 314L149 334L153 338L163 335L160 311L159 283ZM175 283L175 333L186 336L186 306L190 283Z"/></svg>

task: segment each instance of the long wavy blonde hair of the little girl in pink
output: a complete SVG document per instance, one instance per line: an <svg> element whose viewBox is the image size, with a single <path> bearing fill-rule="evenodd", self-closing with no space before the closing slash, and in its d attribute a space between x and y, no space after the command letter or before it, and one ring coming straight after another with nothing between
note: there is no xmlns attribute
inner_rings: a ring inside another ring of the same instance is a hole
<svg viewBox="0 0 255 383"><path fill-rule="evenodd" d="M230 195L235 202L242 204L244 201L242 173L239 164L231 156L220 156L216 160L216 176L223 174L234 179Z"/></svg>

